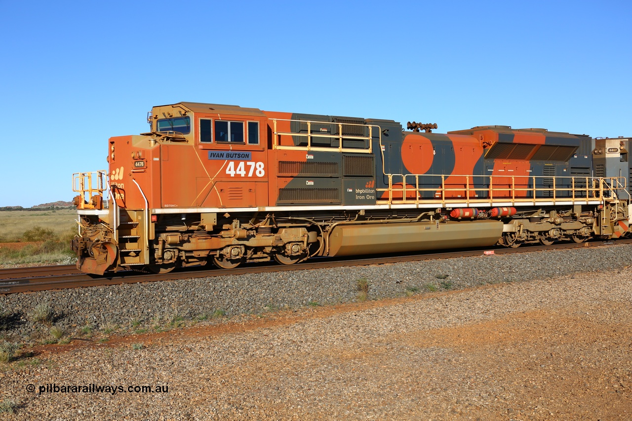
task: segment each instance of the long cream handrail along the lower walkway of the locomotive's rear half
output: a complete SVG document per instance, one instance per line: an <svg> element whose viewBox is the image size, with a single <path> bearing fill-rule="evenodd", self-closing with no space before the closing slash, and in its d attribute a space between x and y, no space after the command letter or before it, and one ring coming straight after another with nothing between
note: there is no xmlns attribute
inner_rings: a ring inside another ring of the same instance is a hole
<svg viewBox="0 0 632 421"><path fill-rule="evenodd" d="M512 205L540 202L586 203L588 200L630 202L625 177L556 177L556 176L490 176L385 174L387 188L377 188L379 204L420 204L441 200L442 207L459 203L489 204L494 201ZM437 178L441 178L438 182ZM447 181L447 182L446 182ZM620 198L625 192L627 198ZM424 193L426 193L424 195ZM619 193L619 194L617 194Z"/></svg>

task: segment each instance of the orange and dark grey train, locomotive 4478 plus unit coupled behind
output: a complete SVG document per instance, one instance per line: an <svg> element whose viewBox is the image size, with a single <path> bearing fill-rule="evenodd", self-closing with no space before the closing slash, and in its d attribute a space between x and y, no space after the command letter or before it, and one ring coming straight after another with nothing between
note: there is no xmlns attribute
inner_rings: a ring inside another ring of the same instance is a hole
<svg viewBox="0 0 632 421"><path fill-rule="evenodd" d="M179 102L73 174L87 273L617 238L629 138Z"/></svg>

